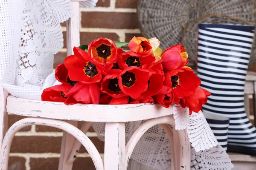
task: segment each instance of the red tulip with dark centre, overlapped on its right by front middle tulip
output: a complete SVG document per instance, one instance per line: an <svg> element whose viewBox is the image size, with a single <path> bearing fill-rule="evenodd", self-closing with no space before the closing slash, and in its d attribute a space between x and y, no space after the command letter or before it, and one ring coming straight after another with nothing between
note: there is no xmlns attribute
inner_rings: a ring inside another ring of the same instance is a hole
<svg viewBox="0 0 256 170"><path fill-rule="evenodd" d="M112 69L111 69L112 70ZM119 84L118 84L118 77L119 74L110 74L104 77L102 80L100 90L108 94L113 98L120 98L122 96L127 96L124 92L121 91Z"/></svg>

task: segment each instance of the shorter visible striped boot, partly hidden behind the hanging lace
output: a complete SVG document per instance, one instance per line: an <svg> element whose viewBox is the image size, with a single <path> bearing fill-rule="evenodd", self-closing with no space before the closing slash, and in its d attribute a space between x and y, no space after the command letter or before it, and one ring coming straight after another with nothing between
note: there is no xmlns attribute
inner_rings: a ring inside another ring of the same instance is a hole
<svg viewBox="0 0 256 170"><path fill-rule="evenodd" d="M230 119L210 113L204 113L204 117L209 124L209 127L212 129L218 144L220 144L221 147L227 151L227 132Z"/></svg>

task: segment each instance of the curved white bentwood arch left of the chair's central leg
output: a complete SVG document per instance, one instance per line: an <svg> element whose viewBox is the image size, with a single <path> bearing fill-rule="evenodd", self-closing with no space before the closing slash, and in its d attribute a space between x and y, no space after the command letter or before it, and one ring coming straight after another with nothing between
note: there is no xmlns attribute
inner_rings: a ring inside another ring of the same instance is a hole
<svg viewBox="0 0 256 170"><path fill-rule="evenodd" d="M67 133L76 137L79 142L81 142L84 147L86 148L87 152L90 154L91 158L93 159L93 163L96 167L96 170L104 170L104 165L102 158L94 146L94 144L90 141L90 139L77 127L70 125L67 122L60 121L60 120L53 120L53 119L41 119L41 118L25 118L10 127L7 131L5 138L3 139L3 149L1 149L0 153L0 166L1 170L8 169L8 159L9 159L9 152L10 147L12 144L12 139L15 136L15 133L22 129L23 127L30 126L30 125L45 125L50 127L56 127L62 130L67 131Z"/></svg>

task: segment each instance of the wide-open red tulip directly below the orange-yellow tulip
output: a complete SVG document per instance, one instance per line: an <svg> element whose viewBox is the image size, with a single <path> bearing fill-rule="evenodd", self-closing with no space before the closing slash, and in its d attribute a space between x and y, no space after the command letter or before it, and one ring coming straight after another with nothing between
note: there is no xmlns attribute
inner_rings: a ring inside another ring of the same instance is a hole
<svg viewBox="0 0 256 170"><path fill-rule="evenodd" d="M152 54L141 55L128 51L120 55L119 65L121 65L122 68L130 66L150 68L154 64L155 60L156 58Z"/></svg>

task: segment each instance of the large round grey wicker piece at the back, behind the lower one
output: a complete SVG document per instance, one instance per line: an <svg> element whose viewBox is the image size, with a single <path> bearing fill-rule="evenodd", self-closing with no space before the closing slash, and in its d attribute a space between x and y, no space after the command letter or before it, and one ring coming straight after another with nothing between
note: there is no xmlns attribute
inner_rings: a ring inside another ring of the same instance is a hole
<svg viewBox="0 0 256 170"><path fill-rule="evenodd" d="M138 0L137 14L143 36L157 37L167 48L181 42L184 28L201 16L229 15L255 25L256 0Z"/></svg>

